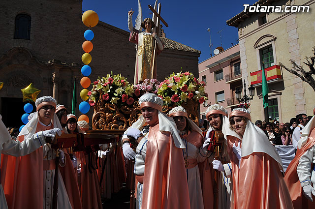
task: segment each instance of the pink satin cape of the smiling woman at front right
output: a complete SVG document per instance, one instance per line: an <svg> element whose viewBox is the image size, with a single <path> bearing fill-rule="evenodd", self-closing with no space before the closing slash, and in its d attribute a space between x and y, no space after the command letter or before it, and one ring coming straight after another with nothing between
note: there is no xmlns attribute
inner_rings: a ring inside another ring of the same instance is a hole
<svg viewBox="0 0 315 209"><path fill-rule="evenodd" d="M233 209L293 209L278 162L264 152L242 157L240 168L232 150L236 137L227 136L227 150L231 159L234 206ZM241 145L242 146L242 145Z"/></svg>

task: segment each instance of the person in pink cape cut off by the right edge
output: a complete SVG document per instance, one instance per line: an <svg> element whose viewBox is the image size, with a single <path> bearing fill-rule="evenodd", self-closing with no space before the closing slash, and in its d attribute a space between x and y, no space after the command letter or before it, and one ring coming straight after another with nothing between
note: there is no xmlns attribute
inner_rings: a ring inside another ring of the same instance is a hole
<svg viewBox="0 0 315 209"><path fill-rule="evenodd" d="M315 109L314 109L315 110ZM301 131L296 155L286 169L284 180L294 209L315 208L315 116ZM312 186L313 184L313 186Z"/></svg>

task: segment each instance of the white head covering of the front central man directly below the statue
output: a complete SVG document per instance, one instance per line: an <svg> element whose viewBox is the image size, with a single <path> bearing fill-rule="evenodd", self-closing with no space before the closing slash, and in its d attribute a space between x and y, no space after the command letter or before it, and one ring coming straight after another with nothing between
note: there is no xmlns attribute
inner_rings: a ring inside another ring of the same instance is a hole
<svg viewBox="0 0 315 209"><path fill-rule="evenodd" d="M153 93L146 93L139 98L140 107L150 104L150 107L158 110L158 124L159 131L168 131L172 134L174 139L174 144L177 148L185 149L186 146L179 135L179 130L177 129L174 119L167 117L164 113L161 112L163 100ZM141 128L146 123L146 120L141 115L139 119L132 124L133 128Z"/></svg>

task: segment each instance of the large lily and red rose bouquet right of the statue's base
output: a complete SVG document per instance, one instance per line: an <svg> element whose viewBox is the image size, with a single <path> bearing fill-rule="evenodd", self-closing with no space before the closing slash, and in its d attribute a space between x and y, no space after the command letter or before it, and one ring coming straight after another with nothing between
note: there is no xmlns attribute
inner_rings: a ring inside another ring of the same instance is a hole
<svg viewBox="0 0 315 209"><path fill-rule="evenodd" d="M180 106L187 99L202 104L208 100L208 94L205 92L206 83L193 77L192 73L179 72L173 73L158 86L158 96L164 101L164 105Z"/></svg>

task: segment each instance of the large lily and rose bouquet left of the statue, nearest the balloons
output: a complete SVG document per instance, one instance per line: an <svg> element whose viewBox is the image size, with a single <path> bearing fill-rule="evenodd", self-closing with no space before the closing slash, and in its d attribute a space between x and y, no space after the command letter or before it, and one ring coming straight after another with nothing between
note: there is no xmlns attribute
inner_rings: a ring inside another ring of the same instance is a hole
<svg viewBox="0 0 315 209"><path fill-rule="evenodd" d="M118 107L132 106L135 101L133 84L129 84L121 74L107 74L106 77L98 77L93 83L93 89L88 93L90 106L94 106L99 100Z"/></svg>

